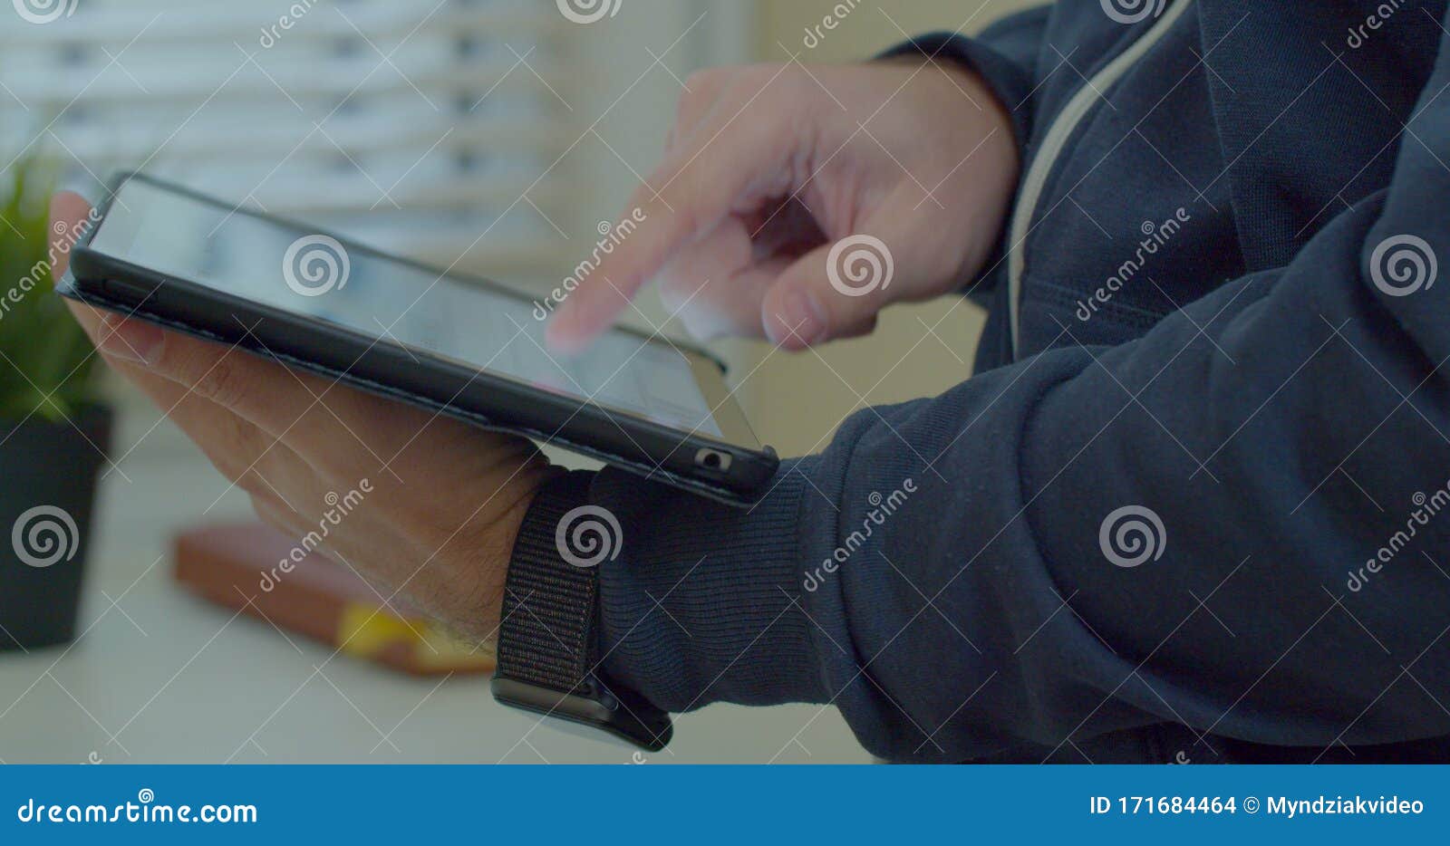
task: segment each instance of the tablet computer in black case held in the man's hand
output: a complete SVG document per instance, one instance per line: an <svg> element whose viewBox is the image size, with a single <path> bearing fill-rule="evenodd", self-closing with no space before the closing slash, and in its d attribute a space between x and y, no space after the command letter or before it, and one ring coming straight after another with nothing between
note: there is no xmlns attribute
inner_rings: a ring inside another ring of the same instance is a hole
<svg viewBox="0 0 1450 846"><path fill-rule="evenodd" d="M761 446L708 353L629 329L563 356L525 293L122 174L61 294L732 504Z"/></svg>

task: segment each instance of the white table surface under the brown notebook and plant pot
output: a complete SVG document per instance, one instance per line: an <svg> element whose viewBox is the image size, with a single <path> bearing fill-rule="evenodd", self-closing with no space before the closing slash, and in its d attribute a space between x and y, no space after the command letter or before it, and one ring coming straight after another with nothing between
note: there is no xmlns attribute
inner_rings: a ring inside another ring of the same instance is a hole
<svg viewBox="0 0 1450 846"><path fill-rule="evenodd" d="M413 679L206 604L171 579L168 545L246 497L168 423L122 397L90 539L84 634L0 653L9 763L867 762L834 708L710 705L637 756L496 705L487 679ZM125 474L125 475L122 475Z"/></svg>

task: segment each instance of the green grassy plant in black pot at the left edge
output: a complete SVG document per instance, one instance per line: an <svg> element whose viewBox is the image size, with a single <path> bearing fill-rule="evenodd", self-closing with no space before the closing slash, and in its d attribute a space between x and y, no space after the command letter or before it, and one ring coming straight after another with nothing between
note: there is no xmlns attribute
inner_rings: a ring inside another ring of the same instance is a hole
<svg viewBox="0 0 1450 846"><path fill-rule="evenodd" d="M110 443L97 356L52 293L57 259L83 235L51 226L54 185L35 154L0 172L0 650L74 637Z"/></svg>

